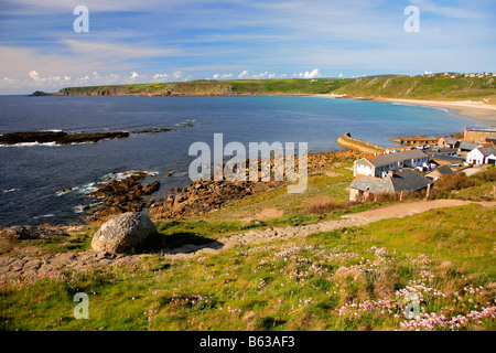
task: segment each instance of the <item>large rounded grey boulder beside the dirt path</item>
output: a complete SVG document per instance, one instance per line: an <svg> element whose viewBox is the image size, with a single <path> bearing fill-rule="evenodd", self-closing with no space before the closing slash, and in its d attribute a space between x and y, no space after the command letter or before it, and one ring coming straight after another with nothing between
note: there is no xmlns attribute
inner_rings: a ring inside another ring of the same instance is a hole
<svg viewBox="0 0 496 353"><path fill-rule="evenodd" d="M96 252L121 254L138 247L157 233L157 227L150 218L137 212L119 214L101 225L91 240Z"/></svg>

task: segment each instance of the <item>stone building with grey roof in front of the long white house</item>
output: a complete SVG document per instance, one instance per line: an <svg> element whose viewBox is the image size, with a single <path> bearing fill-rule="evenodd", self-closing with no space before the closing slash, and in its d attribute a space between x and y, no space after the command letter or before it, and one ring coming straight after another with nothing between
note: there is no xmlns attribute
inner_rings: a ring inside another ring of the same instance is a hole
<svg viewBox="0 0 496 353"><path fill-rule="evenodd" d="M421 191L433 181L420 175L414 170L403 170L399 173L389 172L385 178L358 175L349 184L349 201L367 200L374 194Z"/></svg>

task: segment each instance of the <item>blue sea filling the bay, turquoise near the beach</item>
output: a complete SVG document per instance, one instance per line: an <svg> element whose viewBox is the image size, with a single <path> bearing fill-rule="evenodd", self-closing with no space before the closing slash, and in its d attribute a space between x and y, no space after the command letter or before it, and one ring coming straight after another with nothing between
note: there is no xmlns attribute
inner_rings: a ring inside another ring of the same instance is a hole
<svg viewBox="0 0 496 353"><path fill-rule="evenodd" d="M344 132L381 146L402 135L462 132L483 122L443 108L305 96L0 96L0 133L20 131L131 133L96 143L0 146L0 226L84 224L95 183L145 171L161 190L191 183L194 142L308 142L309 150L342 150ZM298 145L296 145L298 146ZM67 192L61 190L71 189Z"/></svg>

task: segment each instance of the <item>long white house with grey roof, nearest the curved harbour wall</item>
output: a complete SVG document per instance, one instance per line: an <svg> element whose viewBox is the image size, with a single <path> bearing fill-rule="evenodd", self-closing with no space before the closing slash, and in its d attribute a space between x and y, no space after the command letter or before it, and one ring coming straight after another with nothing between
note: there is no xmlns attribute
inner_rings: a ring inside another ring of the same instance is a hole
<svg viewBox="0 0 496 353"><path fill-rule="evenodd" d="M362 158L355 161L353 174L385 178L388 172L398 172L406 168L429 168L429 156L420 150L380 154L373 158Z"/></svg>

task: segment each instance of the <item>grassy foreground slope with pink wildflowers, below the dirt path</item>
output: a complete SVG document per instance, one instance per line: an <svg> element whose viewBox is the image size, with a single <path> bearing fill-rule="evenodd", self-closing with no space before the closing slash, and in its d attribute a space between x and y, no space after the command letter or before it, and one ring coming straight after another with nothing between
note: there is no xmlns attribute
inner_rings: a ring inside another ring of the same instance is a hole
<svg viewBox="0 0 496 353"><path fill-rule="evenodd" d="M2 282L2 330L494 330L495 210ZM73 317L76 292L89 319ZM403 309L420 298L420 318Z"/></svg>

